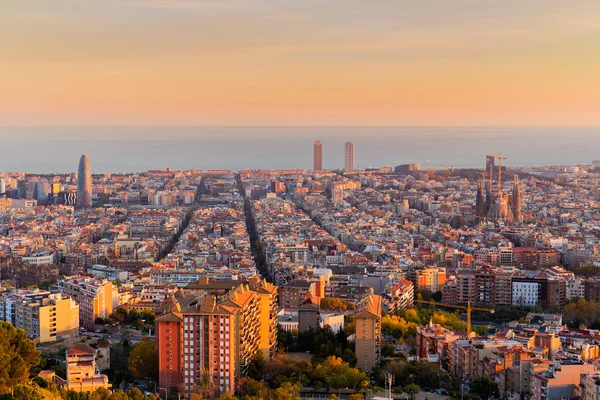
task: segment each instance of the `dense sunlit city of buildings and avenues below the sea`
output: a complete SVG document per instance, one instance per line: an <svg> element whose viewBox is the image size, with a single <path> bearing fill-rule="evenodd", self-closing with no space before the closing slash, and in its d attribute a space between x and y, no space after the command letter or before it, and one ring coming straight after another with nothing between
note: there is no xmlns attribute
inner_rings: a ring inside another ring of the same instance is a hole
<svg viewBox="0 0 600 400"><path fill-rule="evenodd" d="M1 174L0 391L600 395L599 162L357 169L347 142L324 170L323 145L310 170Z"/></svg>

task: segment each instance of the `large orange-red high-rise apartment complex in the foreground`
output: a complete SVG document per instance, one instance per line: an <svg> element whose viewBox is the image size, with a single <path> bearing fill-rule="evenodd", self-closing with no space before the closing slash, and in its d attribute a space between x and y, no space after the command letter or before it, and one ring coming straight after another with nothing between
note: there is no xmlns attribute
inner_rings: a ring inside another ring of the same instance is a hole
<svg viewBox="0 0 600 400"><path fill-rule="evenodd" d="M185 397L233 393L258 352L268 359L276 350L277 288L251 279L219 298L195 289L204 293L182 290L159 308L159 385Z"/></svg>

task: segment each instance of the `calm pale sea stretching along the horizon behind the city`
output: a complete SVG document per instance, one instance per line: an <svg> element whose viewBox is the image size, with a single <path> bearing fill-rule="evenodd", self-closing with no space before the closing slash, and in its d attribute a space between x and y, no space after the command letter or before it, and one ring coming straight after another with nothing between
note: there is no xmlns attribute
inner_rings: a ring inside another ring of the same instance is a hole
<svg viewBox="0 0 600 400"><path fill-rule="evenodd" d="M324 168L355 163L422 168L587 164L600 159L600 127L0 127L0 172L72 172L81 154L94 172L148 169L311 168L313 142Z"/></svg>

